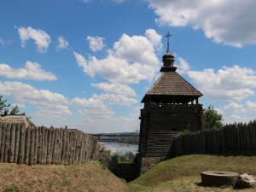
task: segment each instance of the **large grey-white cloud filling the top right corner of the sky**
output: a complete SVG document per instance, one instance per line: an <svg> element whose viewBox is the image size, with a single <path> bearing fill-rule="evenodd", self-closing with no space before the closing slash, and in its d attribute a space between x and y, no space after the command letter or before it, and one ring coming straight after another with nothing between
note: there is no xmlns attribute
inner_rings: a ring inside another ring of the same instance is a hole
<svg viewBox="0 0 256 192"><path fill-rule="evenodd" d="M256 2L248 0L147 0L160 26L201 28L207 38L235 47L256 44Z"/></svg>

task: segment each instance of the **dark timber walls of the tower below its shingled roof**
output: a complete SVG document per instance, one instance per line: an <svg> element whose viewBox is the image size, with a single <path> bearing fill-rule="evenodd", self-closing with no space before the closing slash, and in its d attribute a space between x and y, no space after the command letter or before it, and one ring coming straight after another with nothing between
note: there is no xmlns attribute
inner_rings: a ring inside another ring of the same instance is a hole
<svg viewBox="0 0 256 192"><path fill-rule="evenodd" d="M145 103L140 117L139 152L143 157L171 157L177 132L201 130L201 115L201 105Z"/></svg>

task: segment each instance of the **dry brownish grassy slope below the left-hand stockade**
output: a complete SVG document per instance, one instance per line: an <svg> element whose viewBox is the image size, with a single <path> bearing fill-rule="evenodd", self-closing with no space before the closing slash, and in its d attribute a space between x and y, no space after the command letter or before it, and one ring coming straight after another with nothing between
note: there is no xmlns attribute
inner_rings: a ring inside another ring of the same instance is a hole
<svg viewBox="0 0 256 192"><path fill-rule="evenodd" d="M127 191L128 187L99 163L79 166L0 164L0 191Z"/></svg>

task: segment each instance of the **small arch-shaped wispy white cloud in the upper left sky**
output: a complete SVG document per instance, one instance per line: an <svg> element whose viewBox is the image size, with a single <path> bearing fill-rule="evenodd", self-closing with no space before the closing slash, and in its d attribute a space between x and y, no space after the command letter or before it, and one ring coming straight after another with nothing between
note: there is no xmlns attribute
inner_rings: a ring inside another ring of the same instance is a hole
<svg viewBox="0 0 256 192"><path fill-rule="evenodd" d="M31 26L27 28L20 26L18 28L18 32L20 35L21 46L23 48L26 47L26 41L32 38L35 40L35 44L38 45L38 48L37 48L38 52L40 53L47 52L47 49L50 44L50 37L46 32L40 29L38 30L32 29Z"/></svg>

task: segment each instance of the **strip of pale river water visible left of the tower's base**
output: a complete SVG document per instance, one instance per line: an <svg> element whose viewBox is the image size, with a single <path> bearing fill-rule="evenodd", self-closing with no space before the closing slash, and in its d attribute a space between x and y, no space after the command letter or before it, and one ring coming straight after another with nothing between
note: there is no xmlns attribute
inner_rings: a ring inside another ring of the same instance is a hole
<svg viewBox="0 0 256 192"><path fill-rule="evenodd" d="M128 151L131 151L133 154L137 154L138 144L131 144L131 147L128 148L126 143L117 143L117 142L101 142L108 148L111 148L111 154L120 154L123 155ZM121 146L124 144L124 147Z"/></svg>

